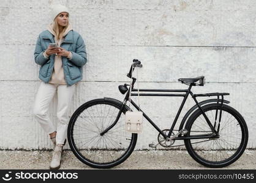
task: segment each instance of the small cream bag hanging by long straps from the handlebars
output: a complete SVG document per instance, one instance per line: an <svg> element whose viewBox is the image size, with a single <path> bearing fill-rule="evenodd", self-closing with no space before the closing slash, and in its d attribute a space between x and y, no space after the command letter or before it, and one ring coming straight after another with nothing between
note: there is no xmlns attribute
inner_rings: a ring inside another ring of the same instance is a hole
<svg viewBox="0 0 256 183"><path fill-rule="evenodd" d="M138 68L137 78L138 78ZM132 76L130 77L132 79ZM137 81L138 84L138 81ZM126 112L126 131L132 133L140 133L142 131L142 119L143 113L141 111L133 112L130 109L130 97L132 93L132 81L130 82L130 93L129 93L129 111ZM138 107L140 107L140 90L138 87Z"/></svg>

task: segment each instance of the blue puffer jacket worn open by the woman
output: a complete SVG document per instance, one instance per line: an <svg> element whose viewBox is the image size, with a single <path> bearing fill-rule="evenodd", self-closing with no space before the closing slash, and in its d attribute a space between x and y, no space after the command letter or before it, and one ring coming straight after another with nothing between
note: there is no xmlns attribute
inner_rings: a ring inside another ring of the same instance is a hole
<svg viewBox="0 0 256 183"><path fill-rule="evenodd" d="M48 48L50 43L55 43L53 34L44 30L37 38L36 49L34 52L35 62L41 65L39 70L39 79L48 83L53 73L55 54L51 54L48 59L43 57L43 52ZM64 77L67 85L73 85L83 79L83 65L87 62L85 42L78 32L70 30L61 47L72 52L72 59L61 57L64 70Z"/></svg>

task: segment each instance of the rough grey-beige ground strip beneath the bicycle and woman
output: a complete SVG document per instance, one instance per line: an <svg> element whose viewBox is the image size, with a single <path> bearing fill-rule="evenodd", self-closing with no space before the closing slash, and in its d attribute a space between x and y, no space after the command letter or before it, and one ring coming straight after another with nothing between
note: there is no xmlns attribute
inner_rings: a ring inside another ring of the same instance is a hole
<svg viewBox="0 0 256 183"><path fill-rule="evenodd" d="M52 151L0 151L0 169L48 169ZM256 150L246 150L232 165L222 169L256 169ZM64 151L60 169L92 169L72 151ZM184 150L134 151L113 169L208 169Z"/></svg>

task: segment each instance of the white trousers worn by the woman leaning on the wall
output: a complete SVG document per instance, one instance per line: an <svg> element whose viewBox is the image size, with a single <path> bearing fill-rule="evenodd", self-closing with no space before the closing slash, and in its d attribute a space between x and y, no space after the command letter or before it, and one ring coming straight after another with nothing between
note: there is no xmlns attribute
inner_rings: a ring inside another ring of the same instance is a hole
<svg viewBox="0 0 256 183"><path fill-rule="evenodd" d="M36 94L33 108L34 117L47 134L51 134L55 131L57 132L57 144L64 144L64 140L67 135L67 126L69 124L68 112L70 104L72 103L74 89L75 84L67 86L41 82ZM52 101L55 92L57 92L58 95L58 107L56 114L58 117L58 123L56 127L53 124L53 121L50 120L48 114L50 102Z"/></svg>

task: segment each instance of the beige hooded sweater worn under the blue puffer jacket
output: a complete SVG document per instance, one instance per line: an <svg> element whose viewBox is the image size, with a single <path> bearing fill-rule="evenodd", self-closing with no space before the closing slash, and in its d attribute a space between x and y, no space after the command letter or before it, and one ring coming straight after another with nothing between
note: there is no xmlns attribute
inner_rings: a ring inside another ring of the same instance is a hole
<svg viewBox="0 0 256 183"><path fill-rule="evenodd" d="M53 24L50 24L48 26L48 30L55 36L55 43L57 43L58 46L61 46L62 41L64 40L64 37L67 35L67 33L72 30L71 25L67 27L65 30L63 37L60 40L56 40L56 34L53 31ZM48 59L48 55L46 52L43 52L43 56ZM72 52L69 52L69 56L67 56L68 59L72 59ZM53 74L51 74L51 78L49 83L51 84L61 84L61 85L66 85L66 81L64 78L64 70L62 67L62 59L61 56L55 56L55 66L53 68Z"/></svg>

